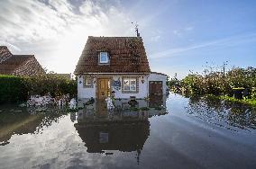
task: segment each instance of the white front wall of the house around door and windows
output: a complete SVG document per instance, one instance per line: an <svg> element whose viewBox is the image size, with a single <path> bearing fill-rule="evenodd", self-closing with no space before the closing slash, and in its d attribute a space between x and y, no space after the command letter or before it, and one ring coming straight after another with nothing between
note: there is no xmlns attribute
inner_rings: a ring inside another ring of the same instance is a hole
<svg viewBox="0 0 256 169"><path fill-rule="evenodd" d="M122 92L122 87L121 89L115 90L113 86L111 86L111 91L114 91L114 98L130 98L130 96L135 96L136 98L144 98L148 96L148 76L136 76L136 75L114 75L114 76L96 76L94 78L94 81L96 82L96 78L97 77L111 77L112 79L114 79L115 81L118 80L118 78L120 78L121 84L122 84L122 77L138 77L139 81L139 92L138 93L123 93ZM142 80L144 80L144 83L142 84ZM84 76L78 76L78 99L82 99L82 98L96 98L96 83L93 84L93 87L91 88L86 88L84 87Z"/></svg>

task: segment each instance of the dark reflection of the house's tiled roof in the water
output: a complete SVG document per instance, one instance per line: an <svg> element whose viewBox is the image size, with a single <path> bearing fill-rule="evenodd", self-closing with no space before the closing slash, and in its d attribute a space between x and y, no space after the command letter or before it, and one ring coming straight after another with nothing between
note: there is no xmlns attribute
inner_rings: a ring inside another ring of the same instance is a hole
<svg viewBox="0 0 256 169"><path fill-rule="evenodd" d="M150 135L149 120L108 123L78 122L75 127L89 153L103 153L104 150L141 151Z"/></svg>

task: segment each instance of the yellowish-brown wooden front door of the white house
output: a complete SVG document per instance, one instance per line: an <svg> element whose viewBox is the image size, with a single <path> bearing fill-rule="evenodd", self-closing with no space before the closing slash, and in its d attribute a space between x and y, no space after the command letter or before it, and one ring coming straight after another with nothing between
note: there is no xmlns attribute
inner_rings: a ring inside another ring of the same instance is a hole
<svg viewBox="0 0 256 169"><path fill-rule="evenodd" d="M97 99L105 99L110 96L110 79L98 78L97 79Z"/></svg>

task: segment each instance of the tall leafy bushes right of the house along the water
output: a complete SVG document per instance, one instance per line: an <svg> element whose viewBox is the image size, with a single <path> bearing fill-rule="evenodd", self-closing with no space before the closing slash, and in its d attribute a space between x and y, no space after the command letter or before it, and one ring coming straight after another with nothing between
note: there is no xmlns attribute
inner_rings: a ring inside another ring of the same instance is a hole
<svg viewBox="0 0 256 169"><path fill-rule="evenodd" d="M252 89L251 97L256 98L256 68L233 67L227 72L213 71L213 68L206 69L204 74L191 72L184 79L177 82L189 93L233 95L233 88L243 87ZM170 84L171 87L171 84Z"/></svg>

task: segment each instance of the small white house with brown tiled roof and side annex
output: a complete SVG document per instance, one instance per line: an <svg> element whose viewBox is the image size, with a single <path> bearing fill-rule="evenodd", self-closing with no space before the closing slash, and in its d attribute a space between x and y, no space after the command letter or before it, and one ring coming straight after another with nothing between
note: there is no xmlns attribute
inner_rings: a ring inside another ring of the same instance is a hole
<svg viewBox="0 0 256 169"><path fill-rule="evenodd" d="M78 99L145 98L166 93L164 74L151 72L142 37L89 36L74 72Z"/></svg>

